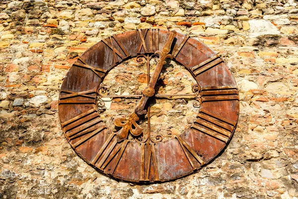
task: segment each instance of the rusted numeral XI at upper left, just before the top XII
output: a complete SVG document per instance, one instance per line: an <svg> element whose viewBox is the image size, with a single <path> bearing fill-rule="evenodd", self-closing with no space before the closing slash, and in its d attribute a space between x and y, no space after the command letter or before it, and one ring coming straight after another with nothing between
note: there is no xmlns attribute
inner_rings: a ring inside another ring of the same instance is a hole
<svg viewBox="0 0 298 199"><path fill-rule="evenodd" d="M118 46L120 47L122 52L124 52L124 55L115 48L112 38L116 41L116 43L118 44ZM113 57L114 64L119 63L118 57L120 57L121 60L124 60L124 59L130 57L128 51L126 50L126 48L123 46L123 44L119 41L119 39L116 36L110 36L109 40L110 40L110 42L107 39L103 39L102 42L104 44L106 44L113 51L113 53L114 53L114 57Z"/></svg>

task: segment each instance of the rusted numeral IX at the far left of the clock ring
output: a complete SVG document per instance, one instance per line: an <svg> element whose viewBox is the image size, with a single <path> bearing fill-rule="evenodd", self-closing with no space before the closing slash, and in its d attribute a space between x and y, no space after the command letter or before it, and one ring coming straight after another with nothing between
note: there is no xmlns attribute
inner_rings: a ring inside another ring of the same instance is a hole
<svg viewBox="0 0 298 199"><path fill-rule="evenodd" d="M58 102L59 104L62 104L62 103L94 103L95 104L96 95L91 95L91 94L96 94L95 90L82 91L78 93L67 91L67 90L61 90L60 92L68 93L68 94L60 96L60 99ZM75 98L75 97L84 97L92 100L68 100L69 98Z"/></svg>

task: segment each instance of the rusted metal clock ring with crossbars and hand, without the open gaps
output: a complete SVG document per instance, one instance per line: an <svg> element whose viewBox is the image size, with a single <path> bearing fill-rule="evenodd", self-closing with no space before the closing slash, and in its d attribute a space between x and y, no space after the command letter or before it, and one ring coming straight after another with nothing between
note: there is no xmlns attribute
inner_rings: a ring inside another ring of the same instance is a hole
<svg viewBox="0 0 298 199"><path fill-rule="evenodd" d="M172 37L172 38L171 38ZM159 51L160 50L160 51ZM149 60L159 57L153 75ZM113 67L137 57L147 61L148 87L142 95L109 95L101 82ZM166 58L185 66L197 81L193 94L155 95L155 84ZM114 118L112 132L100 118L103 97L139 98L127 118ZM173 139L150 134L150 106L154 98L194 98L200 106L192 125ZM100 109L100 111L98 111ZM220 56L201 42L176 32L138 29L98 42L73 64L59 97L59 117L74 151L88 164L117 179L163 182L183 177L215 158L231 139L239 112L234 78ZM148 128L138 125L147 114ZM128 139L131 133L135 139Z"/></svg>

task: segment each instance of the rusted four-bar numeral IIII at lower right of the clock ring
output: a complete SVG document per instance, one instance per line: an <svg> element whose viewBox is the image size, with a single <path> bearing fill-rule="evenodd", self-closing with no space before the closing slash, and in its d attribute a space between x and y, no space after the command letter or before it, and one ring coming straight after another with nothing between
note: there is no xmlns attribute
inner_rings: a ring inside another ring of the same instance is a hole
<svg viewBox="0 0 298 199"><path fill-rule="evenodd" d="M235 124L233 121L202 108L198 114L198 119L191 127L226 143Z"/></svg>

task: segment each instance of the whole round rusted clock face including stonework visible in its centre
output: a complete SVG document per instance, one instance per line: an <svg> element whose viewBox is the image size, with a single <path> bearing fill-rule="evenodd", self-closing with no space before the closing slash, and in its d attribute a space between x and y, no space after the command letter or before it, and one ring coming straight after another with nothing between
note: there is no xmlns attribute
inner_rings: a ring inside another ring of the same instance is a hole
<svg viewBox="0 0 298 199"><path fill-rule="evenodd" d="M129 182L195 172L229 142L236 83L220 56L176 32L138 29L84 52L61 87L59 117L88 164Z"/></svg>

